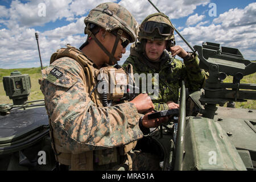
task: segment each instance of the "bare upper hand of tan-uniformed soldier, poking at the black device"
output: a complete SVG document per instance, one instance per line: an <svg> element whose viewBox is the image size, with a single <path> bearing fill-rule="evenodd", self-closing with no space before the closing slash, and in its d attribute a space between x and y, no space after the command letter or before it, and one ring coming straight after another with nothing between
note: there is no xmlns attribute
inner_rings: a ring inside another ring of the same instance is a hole
<svg viewBox="0 0 256 182"><path fill-rule="evenodd" d="M147 93L139 94L130 102L135 105L135 107L138 110L138 113L145 113L147 111L152 111L155 108L153 102L151 101L150 96L148 96Z"/></svg>

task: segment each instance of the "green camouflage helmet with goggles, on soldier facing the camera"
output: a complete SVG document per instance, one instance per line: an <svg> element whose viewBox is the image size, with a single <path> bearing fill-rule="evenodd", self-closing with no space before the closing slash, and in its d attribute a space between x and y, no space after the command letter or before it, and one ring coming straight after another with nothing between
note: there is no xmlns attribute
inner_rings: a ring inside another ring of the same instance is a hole
<svg viewBox="0 0 256 182"><path fill-rule="evenodd" d="M154 13L148 15L139 26L138 40L143 45L143 40L167 40L167 51L175 46L174 26L167 15Z"/></svg>

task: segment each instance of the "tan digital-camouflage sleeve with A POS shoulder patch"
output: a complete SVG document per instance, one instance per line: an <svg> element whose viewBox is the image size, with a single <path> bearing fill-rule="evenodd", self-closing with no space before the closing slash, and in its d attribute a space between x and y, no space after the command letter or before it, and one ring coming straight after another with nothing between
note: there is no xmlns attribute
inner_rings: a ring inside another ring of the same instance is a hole
<svg viewBox="0 0 256 182"><path fill-rule="evenodd" d="M63 57L42 71L41 89L51 126L64 148L80 153L122 146L143 137L134 104L96 107L84 83L84 71Z"/></svg>

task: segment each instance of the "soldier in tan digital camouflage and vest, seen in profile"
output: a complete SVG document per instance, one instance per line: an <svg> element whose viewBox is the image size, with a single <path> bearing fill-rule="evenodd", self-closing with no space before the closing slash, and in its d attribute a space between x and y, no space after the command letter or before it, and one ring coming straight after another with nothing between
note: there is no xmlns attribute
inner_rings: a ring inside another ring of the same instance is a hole
<svg viewBox="0 0 256 182"><path fill-rule="evenodd" d="M80 49L59 49L42 71L56 160L71 170L141 169L133 163L136 141L167 118L147 119L154 109L147 94L104 107L95 89L100 70L117 63L136 40L137 22L116 3L98 5L84 22L86 42Z"/></svg>

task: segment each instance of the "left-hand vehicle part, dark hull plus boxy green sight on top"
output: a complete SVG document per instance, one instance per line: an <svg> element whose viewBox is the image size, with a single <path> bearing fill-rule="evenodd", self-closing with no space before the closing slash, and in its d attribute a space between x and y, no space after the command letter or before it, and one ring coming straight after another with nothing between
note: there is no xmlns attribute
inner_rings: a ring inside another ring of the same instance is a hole
<svg viewBox="0 0 256 182"><path fill-rule="evenodd" d="M14 71L3 86L13 104L0 105L0 170L55 169L44 100L27 101L30 77Z"/></svg>

